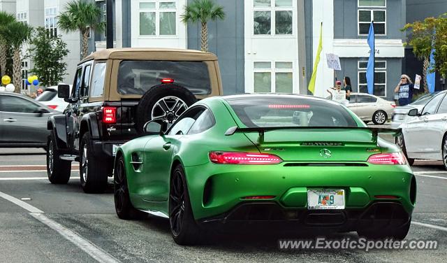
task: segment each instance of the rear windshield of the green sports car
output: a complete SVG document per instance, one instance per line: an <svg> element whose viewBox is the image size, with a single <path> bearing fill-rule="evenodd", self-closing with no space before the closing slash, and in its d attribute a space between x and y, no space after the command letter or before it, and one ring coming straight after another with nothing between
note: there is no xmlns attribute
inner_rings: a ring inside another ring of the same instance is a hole
<svg viewBox="0 0 447 263"><path fill-rule="evenodd" d="M227 101L247 127L358 127L349 112L333 101L291 97Z"/></svg>

